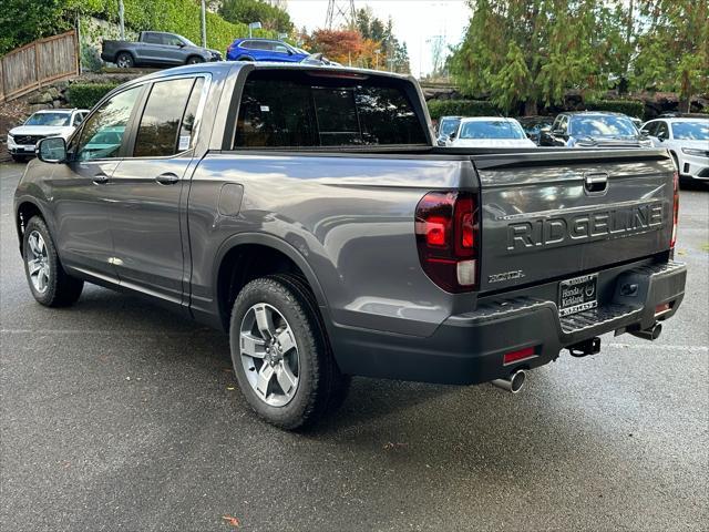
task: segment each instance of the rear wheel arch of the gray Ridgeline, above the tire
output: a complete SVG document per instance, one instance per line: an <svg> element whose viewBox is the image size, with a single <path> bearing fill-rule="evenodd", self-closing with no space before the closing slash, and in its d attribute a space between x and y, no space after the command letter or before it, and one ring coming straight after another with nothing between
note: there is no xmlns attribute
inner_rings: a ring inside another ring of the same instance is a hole
<svg viewBox="0 0 709 532"><path fill-rule="evenodd" d="M258 258L258 263L255 260ZM306 258L289 243L278 237L254 233L228 238L219 247L214 263L215 300L225 330L238 290L249 280L276 273L295 273L304 277L316 298L326 327L329 328L325 291Z"/></svg>

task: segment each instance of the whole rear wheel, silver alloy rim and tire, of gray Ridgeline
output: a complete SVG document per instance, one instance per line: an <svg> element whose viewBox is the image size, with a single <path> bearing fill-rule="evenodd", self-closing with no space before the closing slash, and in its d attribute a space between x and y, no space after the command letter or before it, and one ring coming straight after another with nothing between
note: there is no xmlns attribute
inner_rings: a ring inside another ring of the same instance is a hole
<svg viewBox="0 0 709 532"><path fill-rule="evenodd" d="M266 421L297 429L342 401L349 378L300 278L280 274L246 285L234 303L229 339L242 393Z"/></svg>

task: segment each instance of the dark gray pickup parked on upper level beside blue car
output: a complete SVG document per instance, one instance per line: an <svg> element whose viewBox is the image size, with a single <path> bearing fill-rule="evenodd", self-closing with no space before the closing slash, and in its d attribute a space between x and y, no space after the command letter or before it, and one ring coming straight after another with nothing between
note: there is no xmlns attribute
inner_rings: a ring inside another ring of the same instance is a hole
<svg viewBox="0 0 709 532"><path fill-rule="evenodd" d="M101 59L121 69L132 66L177 66L222 61L216 50L202 48L176 33L141 31L137 42L103 41Z"/></svg>

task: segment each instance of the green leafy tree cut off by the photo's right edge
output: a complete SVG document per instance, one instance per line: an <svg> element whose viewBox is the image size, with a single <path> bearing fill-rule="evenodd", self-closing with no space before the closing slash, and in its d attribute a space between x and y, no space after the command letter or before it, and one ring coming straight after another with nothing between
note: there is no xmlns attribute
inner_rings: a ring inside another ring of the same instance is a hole
<svg viewBox="0 0 709 532"><path fill-rule="evenodd" d="M689 111L691 95L709 89L709 1L646 0L640 17L633 85L677 92Z"/></svg>

